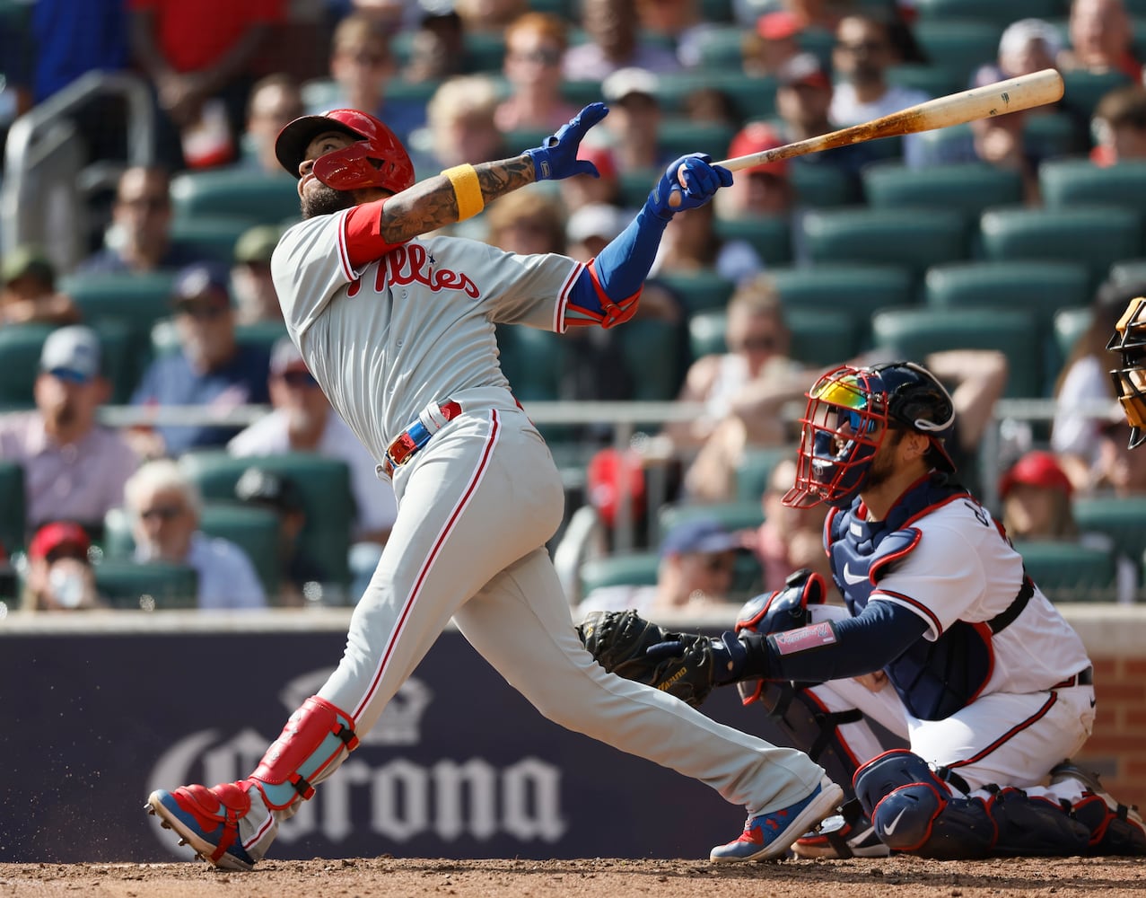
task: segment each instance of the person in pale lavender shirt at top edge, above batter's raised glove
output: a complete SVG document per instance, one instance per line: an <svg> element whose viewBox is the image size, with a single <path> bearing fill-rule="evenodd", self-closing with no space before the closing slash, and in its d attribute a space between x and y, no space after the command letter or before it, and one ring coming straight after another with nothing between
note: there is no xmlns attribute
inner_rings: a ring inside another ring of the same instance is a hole
<svg viewBox="0 0 1146 898"><path fill-rule="evenodd" d="M562 70L567 80L604 81L629 68L681 70L673 50L642 39L636 0L582 0L581 28L587 40L565 52Z"/></svg>

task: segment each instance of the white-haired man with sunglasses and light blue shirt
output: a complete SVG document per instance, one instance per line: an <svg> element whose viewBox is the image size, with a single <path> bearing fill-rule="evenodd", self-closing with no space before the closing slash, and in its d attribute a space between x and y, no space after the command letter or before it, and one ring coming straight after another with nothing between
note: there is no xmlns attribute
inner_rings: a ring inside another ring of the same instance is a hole
<svg viewBox="0 0 1146 898"><path fill-rule="evenodd" d="M199 609L266 607L262 584L246 553L199 530L203 497L175 461L142 464L124 486L124 509L132 522L135 561L193 568Z"/></svg>

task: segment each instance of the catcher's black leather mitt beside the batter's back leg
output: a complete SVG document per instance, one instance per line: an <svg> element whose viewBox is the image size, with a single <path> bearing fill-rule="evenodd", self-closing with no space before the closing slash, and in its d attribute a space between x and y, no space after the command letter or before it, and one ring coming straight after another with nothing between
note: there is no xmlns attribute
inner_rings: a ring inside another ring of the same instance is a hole
<svg viewBox="0 0 1146 898"><path fill-rule="evenodd" d="M590 611L576 632L610 673L653 686L693 708L699 708L713 690L708 637L669 633L636 611Z"/></svg>

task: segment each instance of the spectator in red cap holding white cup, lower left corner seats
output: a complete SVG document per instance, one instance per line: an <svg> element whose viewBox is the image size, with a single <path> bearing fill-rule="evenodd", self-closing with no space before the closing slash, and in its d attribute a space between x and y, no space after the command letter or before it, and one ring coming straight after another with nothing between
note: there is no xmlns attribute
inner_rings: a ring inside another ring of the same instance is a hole
<svg viewBox="0 0 1146 898"><path fill-rule="evenodd" d="M53 521L28 545L28 573L21 606L29 611L103 608L88 560L92 540L79 524Z"/></svg>

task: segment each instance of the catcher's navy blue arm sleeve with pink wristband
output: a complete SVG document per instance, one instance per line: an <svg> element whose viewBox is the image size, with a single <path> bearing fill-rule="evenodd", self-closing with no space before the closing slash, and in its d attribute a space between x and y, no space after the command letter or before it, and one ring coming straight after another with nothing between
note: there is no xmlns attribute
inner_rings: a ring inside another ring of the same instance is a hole
<svg viewBox="0 0 1146 898"><path fill-rule="evenodd" d="M800 631L774 633L763 640L770 680L825 682L881 670L923 639L927 622L896 602L868 602L856 617L801 627L821 630L819 639L791 639ZM832 633L825 643L824 634ZM787 646L792 648L788 649Z"/></svg>

